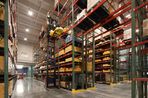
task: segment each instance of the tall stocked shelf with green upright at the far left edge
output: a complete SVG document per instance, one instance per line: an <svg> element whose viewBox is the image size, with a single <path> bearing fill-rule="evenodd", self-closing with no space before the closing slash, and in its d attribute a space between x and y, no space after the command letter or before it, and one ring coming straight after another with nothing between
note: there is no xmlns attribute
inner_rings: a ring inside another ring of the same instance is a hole
<svg viewBox="0 0 148 98"><path fill-rule="evenodd" d="M11 97L16 82L16 1L0 1L0 98ZM13 9L13 10L12 10ZM9 20L8 20L9 17Z"/></svg>

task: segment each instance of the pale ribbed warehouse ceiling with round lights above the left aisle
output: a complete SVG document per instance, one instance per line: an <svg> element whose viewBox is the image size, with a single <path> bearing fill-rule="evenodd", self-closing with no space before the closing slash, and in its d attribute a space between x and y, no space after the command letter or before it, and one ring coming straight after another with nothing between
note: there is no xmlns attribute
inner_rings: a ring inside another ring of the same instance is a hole
<svg viewBox="0 0 148 98"><path fill-rule="evenodd" d="M46 16L49 10L54 7L54 0L17 0L17 37L18 42L27 38L27 43L38 43L38 37L42 25L46 23ZM28 11L33 15L29 16ZM29 29L26 32L25 29Z"/></svg>

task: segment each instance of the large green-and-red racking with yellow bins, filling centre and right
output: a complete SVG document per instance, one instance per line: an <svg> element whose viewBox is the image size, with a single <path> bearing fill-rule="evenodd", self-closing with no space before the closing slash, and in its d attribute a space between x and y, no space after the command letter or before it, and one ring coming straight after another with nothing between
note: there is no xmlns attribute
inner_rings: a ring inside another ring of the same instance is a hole
<svg viewBox="0 0 148 98"><path fill-rule="evenodd" d="M136 1L140 2L140 0ZM132 41L133 36L129 39L126 38L128 34L131 34L126 30L131 27L131 22L134 24L130 15L133 2L134 0L132 2L128 0L56 0L55 8L48 13L48 17L51 18L52 14L56 14L58 19L53 20L54 28L50 28L48 32L54 38L55 46L58 46L55 47L55 51L58 53L54 58L56 61L54 67L57 69L56 74L60 76L58 77L59 87L62 84L62 86L71 87L71 90L75 91L81 88L94 87L95 81L112 84L133 79L131 73L133 68L135 69L133 67L135 60L132 59L135 54L133 51L131 54L130 47L147 43L147 40L135 43ZM145 1L137 4L133 12L146 9L146 5ZM143 12L146 13L145 10ZM144 17L144 19L147 18L147 16ZM138 19L140 20L140 18ZM68 36L71 37L71 42L67 43L65 39ZM81 87L75 82L79 76L74 71L77 65L75 62L79 61L75 59L77 53L74 51L77 39L82 41L81 54L79 54L82 60L80 64L82 69L79 74L82 78L79 81L84 81L84 83ZM72 52L65 52L70 45L72 45ZM123 57L125 54L121 54L121 50L126 51L126 57ZM68 58L70 56L72 58ZM67 59L71 62L64 62ZM130 62L131 60L132 62ZM92 72L87 69L89 64L91 65L89 69L92 68ZM66 72L66 68L72 72ZM71 86L67 80L72 81ZM87 80L90 80L92 84L87 84Z"/></svg>

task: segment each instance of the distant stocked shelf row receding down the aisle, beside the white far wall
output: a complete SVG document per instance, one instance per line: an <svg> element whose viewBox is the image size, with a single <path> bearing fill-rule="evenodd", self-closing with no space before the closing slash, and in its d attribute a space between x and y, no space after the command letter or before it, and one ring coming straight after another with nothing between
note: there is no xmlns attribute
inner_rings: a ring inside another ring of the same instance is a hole
<svg viewBox="0 0 148 98"><path fill-rule="evenodd" d="M34 77L35 79L46 83L48 38L44 29L40 32L39 42L40 44L34 47L34 62L36 63L34 66Z"/></svg>

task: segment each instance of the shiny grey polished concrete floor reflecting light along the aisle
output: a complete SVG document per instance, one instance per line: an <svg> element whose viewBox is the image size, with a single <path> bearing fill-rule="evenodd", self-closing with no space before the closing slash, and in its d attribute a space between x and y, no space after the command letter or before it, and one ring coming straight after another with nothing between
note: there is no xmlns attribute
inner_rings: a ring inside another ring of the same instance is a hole
<svg viewBox="0 0 148 98"><path fill-rule="evenodd" d="M18 80L12 98L130 98L130 84L116 86L97 84L96 90L78 94L63 89L46 90L44 84L31 78Z"/></svg>

